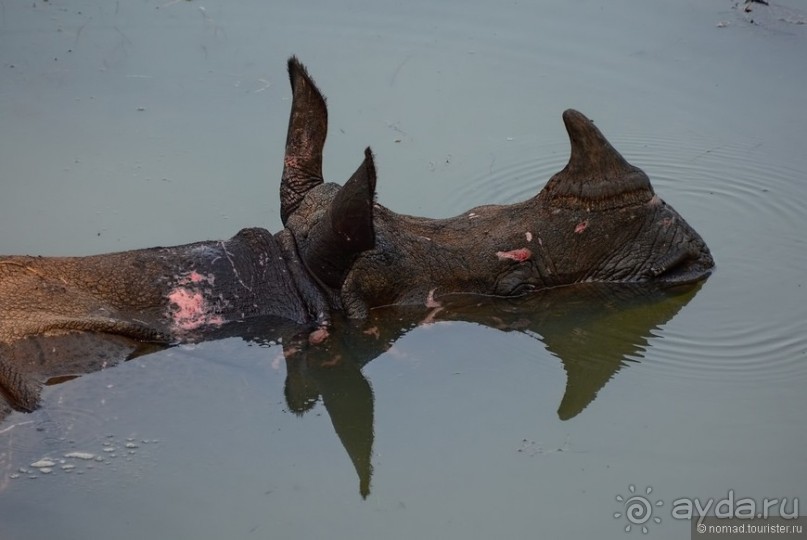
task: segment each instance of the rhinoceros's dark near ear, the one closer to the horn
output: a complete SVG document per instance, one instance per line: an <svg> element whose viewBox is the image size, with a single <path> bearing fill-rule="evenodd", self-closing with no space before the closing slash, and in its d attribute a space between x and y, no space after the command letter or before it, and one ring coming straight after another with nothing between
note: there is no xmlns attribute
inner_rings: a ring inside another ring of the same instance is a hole
<svg viewBox="0 0 807 540"><path fill-rule="evenodd" d="M323 219L308 235L303 255L306 267L333 289L342 286L356 257L375 247L375 182L373 153L367 148L364 162L342 186Z"/></svg>

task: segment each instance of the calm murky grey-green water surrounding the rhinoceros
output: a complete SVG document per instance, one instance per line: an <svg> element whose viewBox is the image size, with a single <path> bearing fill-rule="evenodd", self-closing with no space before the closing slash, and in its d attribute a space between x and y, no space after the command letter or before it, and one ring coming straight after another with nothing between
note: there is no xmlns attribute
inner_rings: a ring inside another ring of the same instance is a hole
<svg viewBox="0 0 807 540"><path fill-rule="evenodd" d="M396 313L387 350L359 334L328 372L226 339L52 387L0 424L0 538L625 538L634 494L684 538L678 498L807 506L799 9L0 2L2 253L277 230L297 54L331 180L369 144L395 210L521 200L574 107L718 263L698 291L540 297L529 321Z"/></svg>

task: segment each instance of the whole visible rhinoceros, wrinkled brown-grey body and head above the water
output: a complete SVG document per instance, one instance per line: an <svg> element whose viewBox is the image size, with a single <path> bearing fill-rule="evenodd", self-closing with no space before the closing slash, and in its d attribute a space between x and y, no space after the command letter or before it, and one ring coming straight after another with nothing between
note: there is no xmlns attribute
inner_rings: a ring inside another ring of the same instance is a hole
<svg viewBox="0 0 807 540"><path fill-rule="evenodd" d="M369 148L344 186L324 182L325 100L296 58L289 75L281 232L91 257L0 257L8 405L32 410L41 383L100 369L144 343L198 341L256 317L307 328L316 345L337 313L365 318L384 305L432 308L453 294L520 296L581 282L674 285L714 266L701 237L577 111L563 114L569 163L537 196L449 219L412 217L375 203Z"/></svg>

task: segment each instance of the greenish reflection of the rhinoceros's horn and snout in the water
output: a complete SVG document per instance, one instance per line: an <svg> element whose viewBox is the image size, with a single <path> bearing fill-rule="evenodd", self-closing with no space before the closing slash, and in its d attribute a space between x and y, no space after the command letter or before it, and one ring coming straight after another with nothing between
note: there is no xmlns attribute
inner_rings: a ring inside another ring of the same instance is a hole
<svg viewBox="0 0 807 540"><path fill-rule="evenodd" d="M518 299L490 298L483 304L473 297L445 296L437 318L526 332L542 341L566 371L558 416L569 420L588 407L628 362L644 356L653 330L674 317L699 289L700 284L659 289L587 283ZM382 341L391 340L384 337Z"/></svg>

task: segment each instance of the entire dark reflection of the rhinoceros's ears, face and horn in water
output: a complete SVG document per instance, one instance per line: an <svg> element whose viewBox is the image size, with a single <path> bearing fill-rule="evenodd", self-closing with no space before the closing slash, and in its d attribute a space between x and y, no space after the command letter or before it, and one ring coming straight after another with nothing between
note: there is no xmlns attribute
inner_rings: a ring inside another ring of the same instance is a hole
<svg viewBox="0 0 807 540"><path fill-rule="evenodd" d="M654 285L590 283L544 289L515 299L480 301L470 295L453 296L425 318L423 310L415 306L389 306L373 310L359 322L336 319L336 331L325 343L285 340L286 402L289 410L304 414L322 401L356 468L359 493L366 497L373 469L375 396L361 369L413 328L464 321L534 337L563 363L566 389L557 414L561 420L571 420L623 367L644 358L654 332L698 289L698 285L661 289ZM261 325L252 326L254 333L242 330L241 336L258 342L275 339L271 334L261 337ZM540 358L540 351L536 353ZM508 369L504 358L490 361Z"/></svg>

